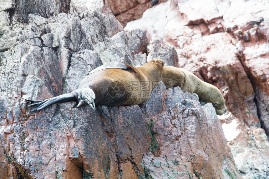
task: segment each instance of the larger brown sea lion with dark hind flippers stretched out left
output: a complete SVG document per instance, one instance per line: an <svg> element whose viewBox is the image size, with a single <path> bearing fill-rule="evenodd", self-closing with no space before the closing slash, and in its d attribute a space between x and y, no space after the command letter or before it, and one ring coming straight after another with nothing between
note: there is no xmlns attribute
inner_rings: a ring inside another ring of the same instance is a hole
<svg viewBox="0 0 269 179"><path fill-rule="evenodd" d="M142 104L148 101L151 90L160 81L162 69L161 60L153 60L137 68L121 62L110 62L89 72L73 92L45 100L27 100L32 102L28 106L35 105L31 110L33 112L56 102L79 102L77 107L89 104L94 110L95 105Z"/></svg>

